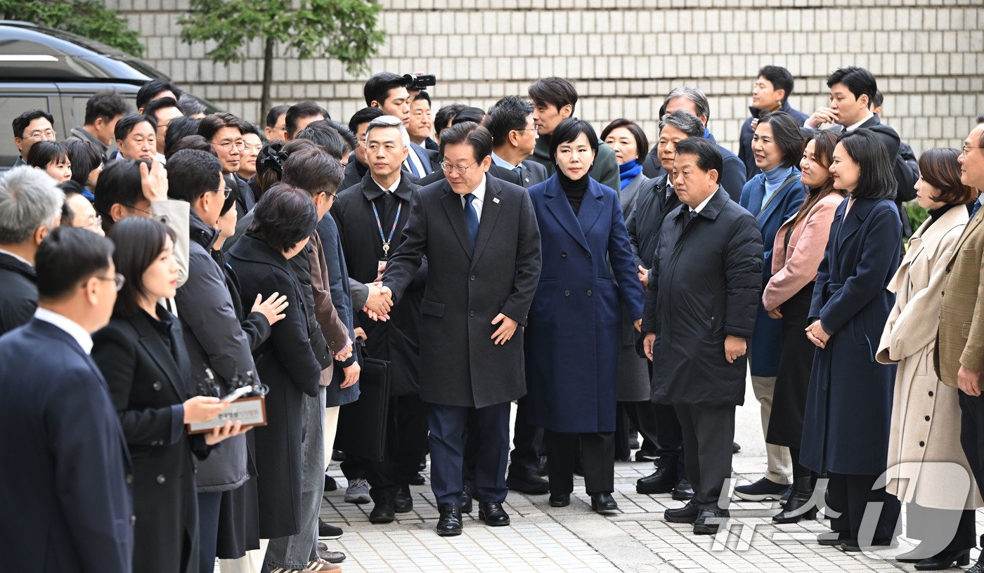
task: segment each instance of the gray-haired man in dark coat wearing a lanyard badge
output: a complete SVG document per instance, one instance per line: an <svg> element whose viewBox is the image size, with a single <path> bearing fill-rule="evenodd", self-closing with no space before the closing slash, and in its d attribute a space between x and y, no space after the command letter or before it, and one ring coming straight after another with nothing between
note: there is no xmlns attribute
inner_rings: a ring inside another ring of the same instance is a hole
<svg viewBox="0 0 984 573"><path fill-rule="evenodd" d="M403 225L410 215L416 184L400 171L410 151L410 138L399 117L380 116L369 122L365 140L369 171L358 185L338 194L332 207L338 238L348 265L348 276L361 283L376 282L403 241ZM393 364L388 435L382 461L360 452L345 452L341 471L349 480L345 500L375 503L371 523L391 523L397 513L412 509L409 483L427 443L427 408L417 392L426 265L406 290L404 303L390 312L388 321L375 321L360 312L353 316L356 337L365 340L365 352ZM360 336L361 334L361 336ZM365 477L365 479L362 478ZM368 482L368 483L367 483ZM371 487L368 491L366 489Z"/></svg>

